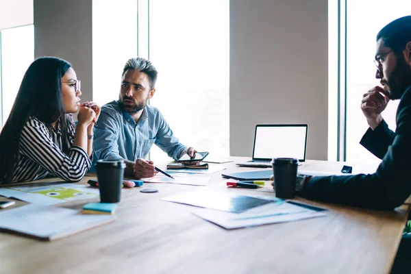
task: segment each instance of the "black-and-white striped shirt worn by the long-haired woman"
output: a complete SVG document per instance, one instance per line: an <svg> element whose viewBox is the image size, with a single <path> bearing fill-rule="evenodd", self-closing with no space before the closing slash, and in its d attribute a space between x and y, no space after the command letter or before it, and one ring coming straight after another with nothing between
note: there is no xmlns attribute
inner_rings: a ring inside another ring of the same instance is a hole
<svg viewBox="0 0 411 274"><path fill-rule="evenodd" d="M75 125L67 116L70 150L62 151L61 128L49 129L36 117L30 117L21 132L20 155L14 166L12 182L42 179L47 175L66 182L79 182L91 166L90 158L82 147L73 146Z"/></svg>

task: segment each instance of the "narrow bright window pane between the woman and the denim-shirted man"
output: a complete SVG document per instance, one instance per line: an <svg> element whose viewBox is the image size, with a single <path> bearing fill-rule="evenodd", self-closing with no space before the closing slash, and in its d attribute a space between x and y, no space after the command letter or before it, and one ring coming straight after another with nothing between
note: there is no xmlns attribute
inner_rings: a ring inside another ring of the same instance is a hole
<svg viewBox="0 0 411 274"><path fill-rule="evenodd" d="M92 1L92 99L99 105L119 99L123 66L137 55L137 18L137 0Z"/></svg>

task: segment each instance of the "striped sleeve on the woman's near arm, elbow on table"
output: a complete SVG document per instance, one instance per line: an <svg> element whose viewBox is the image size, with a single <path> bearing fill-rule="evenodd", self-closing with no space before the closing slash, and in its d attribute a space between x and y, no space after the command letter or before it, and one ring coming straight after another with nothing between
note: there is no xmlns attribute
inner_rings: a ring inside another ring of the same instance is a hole
<svg viewBox="0 0 411 274"><path fill-rule="evenodd" d="M51 139L45 124L38 119L29 119L23 127L20 149L27 158L67 182L81 181L91 166L81 147L72 146L68 155L64 154Z"/></svg>

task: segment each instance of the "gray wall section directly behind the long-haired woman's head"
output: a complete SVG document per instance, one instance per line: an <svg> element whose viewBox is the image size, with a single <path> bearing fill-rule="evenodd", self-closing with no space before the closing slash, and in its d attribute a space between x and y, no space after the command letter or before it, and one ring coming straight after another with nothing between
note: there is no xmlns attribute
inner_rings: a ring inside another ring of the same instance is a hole
<svg viewBox="0 0 411 274"><path fill-rule="evenodd" d="M82 101L92 99L92 0L34 0L34 56L56 56L82 80Z"/></svg>

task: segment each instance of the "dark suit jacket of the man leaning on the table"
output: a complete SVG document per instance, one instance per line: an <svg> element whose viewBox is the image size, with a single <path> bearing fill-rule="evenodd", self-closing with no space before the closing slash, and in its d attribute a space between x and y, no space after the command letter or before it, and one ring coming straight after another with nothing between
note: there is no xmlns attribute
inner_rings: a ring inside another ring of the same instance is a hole
<svg viewBox="0 0 411 274"><path fill-rule="evenodd" d="M382 159L375 173L312 177L301 196L376 210L401 206L411 194L411 86L401 97L396 122L395 132L383 121L361 140L366 149Z"/></svg>

